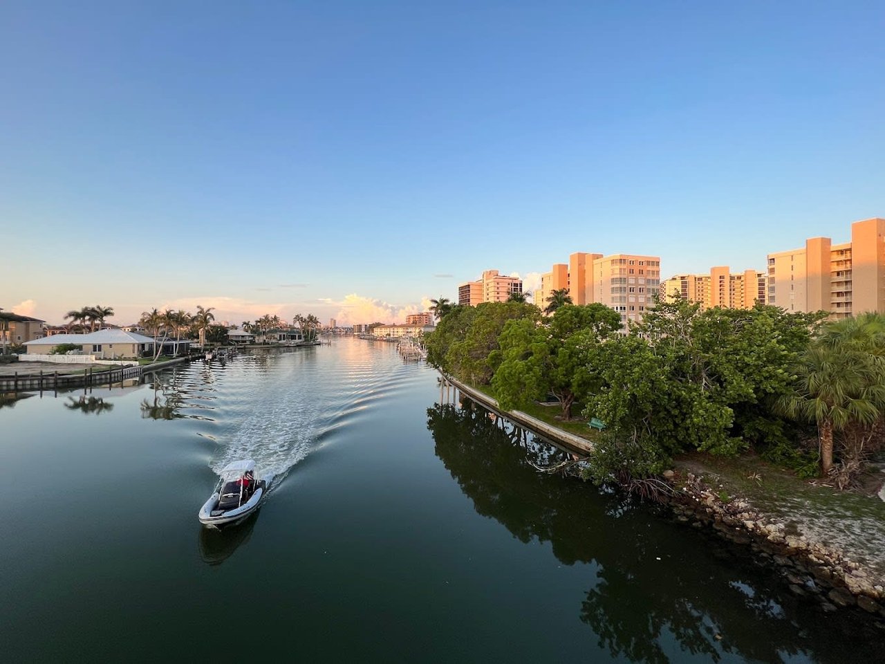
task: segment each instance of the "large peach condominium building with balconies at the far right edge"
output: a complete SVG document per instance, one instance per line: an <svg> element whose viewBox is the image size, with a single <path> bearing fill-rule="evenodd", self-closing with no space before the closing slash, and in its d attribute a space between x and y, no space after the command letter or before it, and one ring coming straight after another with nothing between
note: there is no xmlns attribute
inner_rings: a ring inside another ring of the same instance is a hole
<svg viewBox="0 0 885 664"><path fill-rule="evenodd" d="M855 221L848 243L810 237L800 249L768 254L768 303L834 319L885 313L885 219Z"/></svg>

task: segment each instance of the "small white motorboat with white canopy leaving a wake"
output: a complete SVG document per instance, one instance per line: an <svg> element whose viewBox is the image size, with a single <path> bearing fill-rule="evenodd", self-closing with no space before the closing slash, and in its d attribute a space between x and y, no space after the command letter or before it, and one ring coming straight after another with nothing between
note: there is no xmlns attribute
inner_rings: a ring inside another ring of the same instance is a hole
<svg viewBox="0 0 885 664"><path fill-rule="evenodd" d="M199 513L200 522L211 528L237 523L254 513L273 479L259 478L252 459L232 461L220 475L218 486Z"/></svg>

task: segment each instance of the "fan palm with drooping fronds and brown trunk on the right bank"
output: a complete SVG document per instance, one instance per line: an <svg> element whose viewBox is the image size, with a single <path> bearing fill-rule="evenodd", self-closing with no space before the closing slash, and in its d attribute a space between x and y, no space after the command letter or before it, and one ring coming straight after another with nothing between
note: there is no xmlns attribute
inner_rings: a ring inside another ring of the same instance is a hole
<svg viewBox="0 0 885 664"><path fill-rule="evenodd" d="M826 337L825 337L826 338ZM885 407L880 363L850 344L813 344L799 360L796 389L778 399L781 413L815 422L820 442L820 469L833 467L833 434L850 425L872 425Z"/></svg>

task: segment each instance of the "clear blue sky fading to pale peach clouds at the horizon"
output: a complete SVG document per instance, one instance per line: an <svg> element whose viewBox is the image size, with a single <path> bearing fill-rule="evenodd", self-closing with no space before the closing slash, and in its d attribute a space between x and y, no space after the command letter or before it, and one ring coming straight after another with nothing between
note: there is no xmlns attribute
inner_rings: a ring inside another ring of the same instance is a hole
<svg viewBox="0 0 885 664"><path fill-rule="evenodd" d="M885 216L885 4L0 4L0 307L396 322Z"/></svg>

